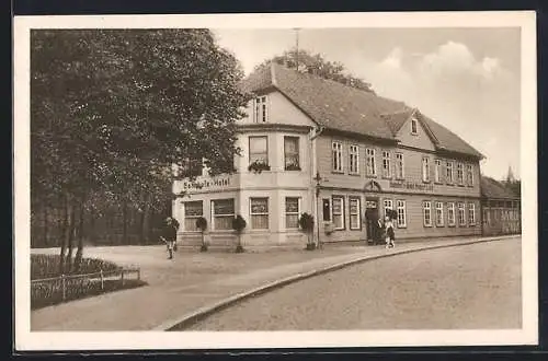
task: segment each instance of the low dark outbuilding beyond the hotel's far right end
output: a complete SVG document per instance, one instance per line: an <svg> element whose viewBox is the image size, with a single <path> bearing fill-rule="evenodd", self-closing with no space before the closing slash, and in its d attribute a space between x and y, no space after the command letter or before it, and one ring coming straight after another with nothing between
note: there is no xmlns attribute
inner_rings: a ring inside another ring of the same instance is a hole
<svg viewBox="0 0 548 361"><path fill-rule="evenodd" d="M521 197L486 176L481 177L481 211L483 235L522 232Z"/></svg>

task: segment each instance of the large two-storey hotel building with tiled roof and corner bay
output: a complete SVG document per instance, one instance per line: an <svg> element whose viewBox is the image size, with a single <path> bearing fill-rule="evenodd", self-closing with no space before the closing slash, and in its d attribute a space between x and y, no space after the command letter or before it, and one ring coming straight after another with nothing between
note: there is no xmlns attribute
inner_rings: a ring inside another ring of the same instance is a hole
<svg viewBox="0 0 548 361"><path fill-rule="evenodd" d="M179 242L197 246L302 247L298 218L315 217L316 242L367 242L395 210L399 240L481 234L476 149L404 103L279 65L244 82L254 94L239 120L237 173L178 180Z"/></svg>

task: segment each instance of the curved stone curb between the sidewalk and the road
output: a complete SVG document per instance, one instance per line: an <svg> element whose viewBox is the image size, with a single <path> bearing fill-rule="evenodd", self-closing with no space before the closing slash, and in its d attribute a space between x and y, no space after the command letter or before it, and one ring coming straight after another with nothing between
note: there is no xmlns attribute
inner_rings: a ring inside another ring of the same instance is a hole
<svg viewBox="0 0 548 361"><path fill-rule="evenodd" d="M220 300L216 303L206 305L204 307L201 307L196 311L193 311L191 313L187 313L186 315L176 318L176 319L171 319L168 321L157 327L155 327L152 330L156 331L175 331L175 330L184 330L185 328L203 321L204 318L210 316L212 314L219 312L224 308L227 308L240 301L244 301L249 298L253 298L256 295L260 295L262 293L266 293L269 291L272 291L277 288L282 288L284 286L287 286L289 283L300 281L307 278L311 278L315 276L320 276L330 271L339 270L344 267L357 265L361 263L365 263L368 260L374 260L374 259L379 259L379 258L386 258L386 257L393 257L398 255L404 255L404 254L410 254L410 253L415 253L415 252L421 252L421 251L429 251L429 249L439 249L439 248L447 248L447 247L456 247L456 246L464 246L464 245L470 245L470 244L476 244L476 243L486 243L486 242L492 242L492 241L503 241L503 240L509 240L509 238L515 238L518 235L509 235L509 236L493 236L493 237L484 237L484 238L477 238L477 240L471 240L471 241L466 241L466 242L460 242L460 243L448 243L448 244L441 244L441 245L433 245L433 246L422 246L413 249L406 249L406 251L391 251L388 254L380 254L380 255L375 255L375 256L361 256L356 259L351 259L351 260L345 260L343 263L330 265L330 266L324 266L322 268L313 269L311 271L305 272L305 273L297 273L294 276L289 276L283 279L275 280L270 283L262 284L260 287L256 287L254 289L251 289L249 291L243 291L240 293L237 293L232 296L226 298L224 300Z"/></svg>

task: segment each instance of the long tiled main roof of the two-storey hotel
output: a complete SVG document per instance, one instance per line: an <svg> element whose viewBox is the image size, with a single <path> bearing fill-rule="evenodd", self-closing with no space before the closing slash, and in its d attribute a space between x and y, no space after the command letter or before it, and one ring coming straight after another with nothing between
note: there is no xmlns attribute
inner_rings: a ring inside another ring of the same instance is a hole
<svg viewBox="0 0 548 361"><path fill-rule="evenodd" d="M414 113L436 148L482 158L458 136L403 102L275 62L250 74L243 88L252 93L275 88L320 126L380 139L396 140L397 131Z"/></svg>

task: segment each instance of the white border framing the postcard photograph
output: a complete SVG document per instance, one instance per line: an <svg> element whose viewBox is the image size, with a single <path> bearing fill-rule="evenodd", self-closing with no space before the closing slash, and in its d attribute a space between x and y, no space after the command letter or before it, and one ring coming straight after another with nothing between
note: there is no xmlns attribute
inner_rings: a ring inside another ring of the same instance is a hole
<svg viewBox="0 0 548 361"><path fill-rule="evenodd" d="M38 333L30 330L31 28L521 27L523 328L275 333ZM78 15L14 18L14 267L16 350L231 349L538 343L536 14L505 12Z"/></svg>

